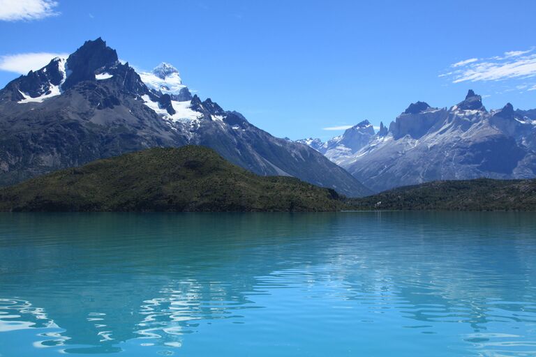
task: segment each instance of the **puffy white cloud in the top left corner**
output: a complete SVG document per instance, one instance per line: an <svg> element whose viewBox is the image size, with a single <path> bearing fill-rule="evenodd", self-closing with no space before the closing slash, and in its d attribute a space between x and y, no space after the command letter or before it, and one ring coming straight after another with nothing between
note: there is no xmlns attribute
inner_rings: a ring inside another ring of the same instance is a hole
<svg viewBox="0 0 536 357"><path fill-rule="evenodd" d="M0 20L39 20L58 15L56 6L58 3L52 0L0 0Z"/></svg>

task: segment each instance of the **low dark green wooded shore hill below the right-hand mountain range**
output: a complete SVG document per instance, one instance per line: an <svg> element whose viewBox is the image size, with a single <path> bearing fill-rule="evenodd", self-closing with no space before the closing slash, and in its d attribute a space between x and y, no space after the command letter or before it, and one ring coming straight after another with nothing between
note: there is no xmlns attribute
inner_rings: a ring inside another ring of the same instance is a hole
<svg viewBox="0 0 536 357"><path fill-rule="evenodd" d="M433 181L350 203L366 210L536 211L536 180Z"/></svg>

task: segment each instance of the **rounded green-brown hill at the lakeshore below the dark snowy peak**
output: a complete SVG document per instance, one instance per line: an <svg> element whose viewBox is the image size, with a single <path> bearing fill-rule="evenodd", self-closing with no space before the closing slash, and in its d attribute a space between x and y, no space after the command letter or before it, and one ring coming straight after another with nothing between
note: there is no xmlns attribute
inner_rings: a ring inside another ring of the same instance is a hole
<svg viewBox="0 0 536 357"><path fill-rule="evenodd" d="M334 190L258 176L203 146L96 160L0 189L1 211L336 211Z"/></svg>

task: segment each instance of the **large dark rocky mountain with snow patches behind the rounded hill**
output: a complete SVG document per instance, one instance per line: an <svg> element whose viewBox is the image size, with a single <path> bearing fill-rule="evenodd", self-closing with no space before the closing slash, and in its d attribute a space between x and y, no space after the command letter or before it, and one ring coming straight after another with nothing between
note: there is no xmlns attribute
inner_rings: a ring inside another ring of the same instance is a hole
<svg viewBox="0 0 536 357"><path fill-rule="evenodd" d="M162 63L137 73L98 38L0 91L0 185L98 158L195 144L260 175L295 176L347 196L370 192L308 146L201 100Z"/></svg>

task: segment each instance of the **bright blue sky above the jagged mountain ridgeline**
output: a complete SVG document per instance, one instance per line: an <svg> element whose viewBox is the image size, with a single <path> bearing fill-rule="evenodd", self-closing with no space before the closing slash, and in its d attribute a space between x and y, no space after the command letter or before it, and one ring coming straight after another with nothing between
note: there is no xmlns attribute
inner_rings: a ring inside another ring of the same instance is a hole
<svg viewBox="0 0 536 357"><path fill-rule="evenodd" d="M327 139L468 89L488 109L535 108L535 13L536 1L0 0L0 85L25 63L15 55L101 36L278 137Z"/></svg>

